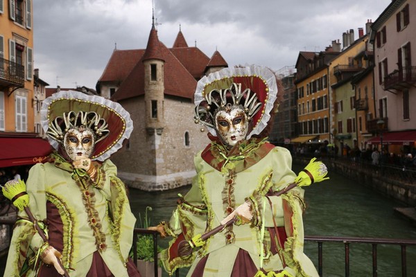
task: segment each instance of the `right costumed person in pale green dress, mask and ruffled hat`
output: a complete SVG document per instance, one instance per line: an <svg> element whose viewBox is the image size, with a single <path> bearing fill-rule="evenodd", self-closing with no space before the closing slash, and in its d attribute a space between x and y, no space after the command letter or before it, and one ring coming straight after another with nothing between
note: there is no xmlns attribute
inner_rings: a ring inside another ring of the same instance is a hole
<svg viewBox="0 0 416 277"><path fill-rule="evenodd" d="M194 158L196 176L171 220L153 227L173 237L162 252L166 271L188 276L318 276L304 255L304 190L273 193L295 180L286 148L268 143L277 80L261 66L226 68L202 78L195 120L211 143ZM198 251L180 256L178 244L234 218Z"/></svg>

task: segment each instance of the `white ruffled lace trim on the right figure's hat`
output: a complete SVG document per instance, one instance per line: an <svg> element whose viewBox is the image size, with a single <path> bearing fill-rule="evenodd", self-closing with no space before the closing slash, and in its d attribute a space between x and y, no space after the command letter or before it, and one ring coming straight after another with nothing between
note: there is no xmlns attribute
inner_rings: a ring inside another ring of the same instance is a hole
<svg viewBox="0 0 416 277"><path fill-rule="evenodd" d="M250 134L248 134L247 139L250 139L251 136L254 134L260 134L264 128L266 128L268 120L270 119L270 111L272 111L273 106L275 105L275 100L277 98L277 82L275 74L264 66L257 66L254 64L246 65L245 67L227 67L225 69L221 69L220 71L216 71L210 73L208 76L202 77L198 84L196 85L196 91L194 95L194 103L196 106L205 100L204 96L202 96L202 92L204 91L205 85L210 84L216 80L220 80L222 78L231 78L233 76L244 76L244 75L258 75L263 80L267 82L268 85L268 98L267 102L263 103L266 104L264 108L264 114L261 116L261 120L257 125L254 126ZM257 91L256 91L257 92ZM216 136L216 131L214 128L206 126L208 131Z"/></svg>

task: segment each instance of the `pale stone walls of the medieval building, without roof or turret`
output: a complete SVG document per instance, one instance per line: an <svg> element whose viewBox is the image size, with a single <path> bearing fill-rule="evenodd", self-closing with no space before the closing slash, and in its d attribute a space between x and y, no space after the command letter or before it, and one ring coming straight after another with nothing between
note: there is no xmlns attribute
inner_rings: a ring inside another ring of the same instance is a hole
<svg viewBox="0 0 416 277"><path fill-rule="evenodd" d="M165 96L164 128L146 129L144 97L121 102L130 112L135 126L130 136L130 150L124 147L112 156L119 177L128 186L141 190L166 190L191 184L195 175L193 157L209 143L207 132L193 120L193 102ZM185 134L189 146L185 145Z"/></svg>

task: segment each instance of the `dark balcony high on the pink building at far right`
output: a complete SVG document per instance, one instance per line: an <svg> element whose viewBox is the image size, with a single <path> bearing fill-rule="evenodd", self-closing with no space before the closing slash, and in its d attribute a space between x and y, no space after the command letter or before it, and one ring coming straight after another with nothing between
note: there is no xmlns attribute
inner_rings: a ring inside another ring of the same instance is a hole
<svg viewBox="0 0 416 277"><path fill-rule="evenodd" d="M416 66L408 66L404 69L396 69L389 75L385 76L383 87L384 90L396 89L403 90L412 87L416 82Z"/></svg>

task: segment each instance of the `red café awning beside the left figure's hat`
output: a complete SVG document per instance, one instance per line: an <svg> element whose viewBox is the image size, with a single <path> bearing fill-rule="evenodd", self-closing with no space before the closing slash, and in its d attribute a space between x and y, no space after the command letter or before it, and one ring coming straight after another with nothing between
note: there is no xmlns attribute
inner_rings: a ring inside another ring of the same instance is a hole
<svg viewBox="0 0 416 277"><path fill-rule="evenodd" d="M41 138L0 138L0 168L41 163L51 152Z"/></svg>

